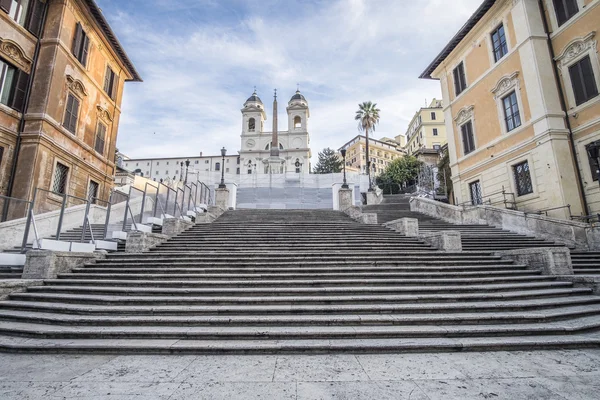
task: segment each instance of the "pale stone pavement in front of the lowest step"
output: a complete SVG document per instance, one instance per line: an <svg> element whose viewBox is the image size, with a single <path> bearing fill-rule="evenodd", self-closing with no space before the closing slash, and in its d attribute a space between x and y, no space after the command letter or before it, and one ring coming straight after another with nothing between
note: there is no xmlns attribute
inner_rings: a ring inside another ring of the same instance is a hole
<svg viewBox="0 0 600 400"><path fill-rule="evenodd" d="M0 399L599 399L600 350L76 356L0 354Z"/></svg>

